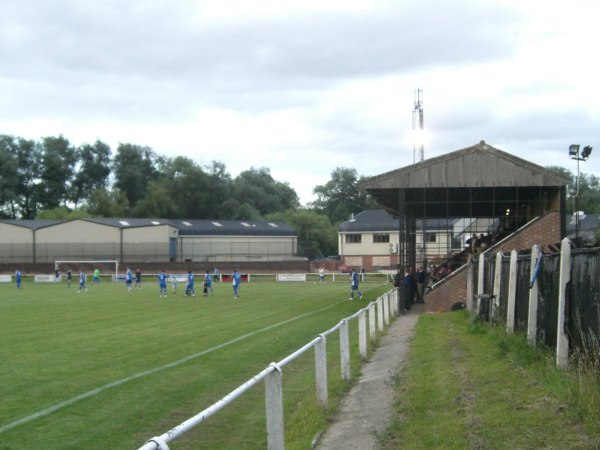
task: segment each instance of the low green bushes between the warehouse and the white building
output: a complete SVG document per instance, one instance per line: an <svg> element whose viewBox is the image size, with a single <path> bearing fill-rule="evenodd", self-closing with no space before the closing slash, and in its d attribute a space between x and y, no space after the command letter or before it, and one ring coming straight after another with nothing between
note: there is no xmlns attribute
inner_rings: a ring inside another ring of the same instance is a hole
<svg viewBox="0 0 600 450"><path fill-rule="evenodd" d="M323 255L337 255L337 228L325 214L306 209L269 214L267 220L277 220L292 226L302 244L305 256L314 258ZM299 245L300 247L300 245Z"/></svg>

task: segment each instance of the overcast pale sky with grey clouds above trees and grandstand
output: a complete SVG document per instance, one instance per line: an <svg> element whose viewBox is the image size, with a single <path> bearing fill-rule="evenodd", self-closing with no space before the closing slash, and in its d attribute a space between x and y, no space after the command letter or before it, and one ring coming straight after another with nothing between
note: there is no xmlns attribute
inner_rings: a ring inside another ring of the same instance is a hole
<svg viewBox="0 0 600 450"><path fill-rule="evenodd" d="M302 203L336 167L372 176L487 143L572 172L597 153L597 0L2 0L0 133L151 147Z"/></svg>

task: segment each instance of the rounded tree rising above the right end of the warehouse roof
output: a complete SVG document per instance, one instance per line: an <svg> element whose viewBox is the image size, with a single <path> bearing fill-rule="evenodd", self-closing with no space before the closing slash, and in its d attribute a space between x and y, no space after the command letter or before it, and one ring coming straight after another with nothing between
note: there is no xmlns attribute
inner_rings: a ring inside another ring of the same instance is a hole
<svg viewBox="0 0 600 450"><path fill-rule="evenodd" d="M268 168L252 167L233 180L233 195L252 206L260 215L299 208L298 194L288 183L275 181Z"/></svg>

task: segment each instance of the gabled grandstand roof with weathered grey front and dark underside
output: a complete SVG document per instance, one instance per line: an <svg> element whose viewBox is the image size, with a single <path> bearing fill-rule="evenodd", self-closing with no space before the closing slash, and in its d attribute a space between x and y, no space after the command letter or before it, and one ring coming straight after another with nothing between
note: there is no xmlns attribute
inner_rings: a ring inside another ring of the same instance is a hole
<svg viewBox="0 0 600 450"><path fill-rule="evenodd" d="M552 170L481 141L367 178L362 186L394 215L402 209L399 199L404 198L405 210L413 210L416 217L485 217L496 215L504 207L503 202L555 198L568 181ZM490 214L492 202L498 208ZM423 207L425 204L428 207Z"/></svg>

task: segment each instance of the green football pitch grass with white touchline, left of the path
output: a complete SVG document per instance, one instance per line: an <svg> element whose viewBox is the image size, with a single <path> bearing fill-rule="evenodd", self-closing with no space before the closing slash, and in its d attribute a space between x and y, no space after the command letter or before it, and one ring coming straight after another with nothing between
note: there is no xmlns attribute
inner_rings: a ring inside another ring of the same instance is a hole
<svg viewBox="0 0 600 450"><path fill-rule="evenodd" d="M128 292L102 282L0 284L0 450L136 449L204 410L273 361L302 347L391 286L347 282L230 284L195 298L144 280ZM360 370L357 321L351 366ZM330 409L340 380L339 339L328 337ZM283 369L286 448L309 448L327 421L316 402L314 352ZM171 449L266 448L262 383L169 444Z"/></svg>

